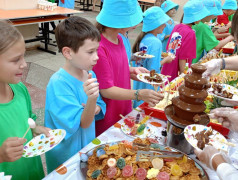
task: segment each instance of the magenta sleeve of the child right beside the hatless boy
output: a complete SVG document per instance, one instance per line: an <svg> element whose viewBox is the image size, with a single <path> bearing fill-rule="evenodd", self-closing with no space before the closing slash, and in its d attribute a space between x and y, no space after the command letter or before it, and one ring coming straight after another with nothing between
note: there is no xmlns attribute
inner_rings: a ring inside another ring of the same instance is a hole
<svg viewBox="0 0 238 180"><path fill-rule="evenodd" d="M97 75L99 89L108 89L114 86L112 67L106 55L105 49L101 46L98 49L99 60L94 66L93 71Z"/></svg>

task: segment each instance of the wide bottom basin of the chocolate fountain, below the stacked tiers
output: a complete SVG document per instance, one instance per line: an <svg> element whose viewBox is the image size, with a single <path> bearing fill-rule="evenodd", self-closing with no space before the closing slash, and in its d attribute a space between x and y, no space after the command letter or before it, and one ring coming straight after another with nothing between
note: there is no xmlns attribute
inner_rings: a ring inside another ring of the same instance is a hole
<svg viewBox="0 0 238 180"><path fill-rule="evenodd" d="M186 120L183 117L180 118L177 116L175 112L175 106L173 104L166 106L164 112L169 122L179 128L185 128L187 125L190 124L201 124L206 126L210 122L209 116L204 112L199 114L201 120L198 122Z"/></svg>

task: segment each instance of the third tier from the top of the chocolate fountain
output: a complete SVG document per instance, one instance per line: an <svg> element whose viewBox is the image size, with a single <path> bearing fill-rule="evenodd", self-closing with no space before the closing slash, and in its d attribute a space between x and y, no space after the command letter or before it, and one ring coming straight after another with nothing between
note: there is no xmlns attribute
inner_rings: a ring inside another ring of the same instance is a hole
<svg viewBox="0 0 238 180"><path fill-rule="evenodd" d="M184 85L180 86L178 90L180 100L189 104L203 104L204 99L208 95L205 89L203 90L190 89Z"/></svg>

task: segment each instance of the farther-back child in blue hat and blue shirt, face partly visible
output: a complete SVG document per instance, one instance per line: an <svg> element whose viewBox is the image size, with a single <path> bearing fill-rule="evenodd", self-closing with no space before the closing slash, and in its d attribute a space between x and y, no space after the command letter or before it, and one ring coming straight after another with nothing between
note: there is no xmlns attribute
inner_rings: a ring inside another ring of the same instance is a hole
<svg viewBox="0 0 238 180"><path fill-rule="evenodd" d="M173 1L167 0L163 2L161 8L171 18L168 22L166 22L166 27L164 28L163 33L158 34L157 36L162 41L162 51L166 52L166 46L169 40L169 36L175 26L174 20L172 18L175 16L179 5L174 3Z"/></svg>

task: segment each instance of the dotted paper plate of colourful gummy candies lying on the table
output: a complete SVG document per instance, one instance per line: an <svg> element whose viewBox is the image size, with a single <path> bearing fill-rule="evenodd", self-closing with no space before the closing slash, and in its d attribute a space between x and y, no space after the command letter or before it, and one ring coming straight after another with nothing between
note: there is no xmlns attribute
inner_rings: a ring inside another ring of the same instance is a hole
<svg viewBox="0 0 238 180"><path fill-rule="evenodd" d="M149 120L150 118L149 115L145 115L141 118L140 113L137 114L136 118L128 116L124 118L123 123L121 124L121 130L124 134L132 138L154 138L155 134L162 134L166 124L162 122L159 123L156 120Z"/></svg>

